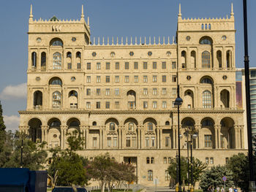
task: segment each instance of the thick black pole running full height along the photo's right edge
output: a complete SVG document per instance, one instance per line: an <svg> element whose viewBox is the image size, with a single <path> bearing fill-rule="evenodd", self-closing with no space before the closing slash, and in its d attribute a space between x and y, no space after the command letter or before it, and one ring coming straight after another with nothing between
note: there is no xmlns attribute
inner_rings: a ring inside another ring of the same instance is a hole
<svg viewBox="0 0 256 192"><path fill-rule="evenodd" d="M256 191L255 175L252 158L252 120L251 104L249 96L249 55L248 55L248 34L247 34L247 1L243 0L244 7L244 76L246 90L246 122L247 122L247 139L248 139L248 156L249 156L249 191Z"/></svg>

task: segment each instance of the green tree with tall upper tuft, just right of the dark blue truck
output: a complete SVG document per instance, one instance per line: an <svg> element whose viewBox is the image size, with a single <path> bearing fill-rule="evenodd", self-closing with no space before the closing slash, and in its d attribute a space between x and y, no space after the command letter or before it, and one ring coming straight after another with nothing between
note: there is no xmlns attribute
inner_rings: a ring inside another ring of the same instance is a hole
<svg viewBox="0 0 256 192"><path fill-rule="evenodd" d="M89 180L84 169L88 166L88 161L75 153L83 148L84 139L80 137L78 131L73 131L67 134L67 144L67 150L61 151L59 148L50 150L53 155L50 158L52 163L48 168L48 174L52 179L56 178L56 183L53 182L53 185L85 185Z"/></svg>

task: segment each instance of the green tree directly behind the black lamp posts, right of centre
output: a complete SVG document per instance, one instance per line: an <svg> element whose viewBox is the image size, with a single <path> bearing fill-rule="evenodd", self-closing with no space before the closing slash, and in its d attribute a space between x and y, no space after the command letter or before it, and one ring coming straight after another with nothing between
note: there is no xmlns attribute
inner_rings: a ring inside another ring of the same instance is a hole
<svg viewBox="0 0 256 192"><path fill-rule="evenodd" d="M200 175L204 172L204 170L207 167L207 164L203 163L197 158L192 158L193 161L193 180L194 184L196 181L199 180ZM189 161L190 164L190 161ZM170 166L168 167L168 172L170 174L170 177L173 179L173 183L176 182L176 158L172 158L170 162ZM190 166L189 166L189 183L190 183ZM185 183L188 183L187 180L187 158L181 157L181 180L184 180Z"/></svg>

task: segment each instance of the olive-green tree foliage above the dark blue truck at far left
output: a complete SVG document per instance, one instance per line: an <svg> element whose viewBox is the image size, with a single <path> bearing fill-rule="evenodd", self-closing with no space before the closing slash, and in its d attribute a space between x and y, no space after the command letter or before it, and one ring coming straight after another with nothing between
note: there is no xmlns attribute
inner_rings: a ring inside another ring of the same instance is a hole
<svg viewBox="0 0 256 192"><path fill-rule="evenodd" d="M45 159L48 153L43 150L46 142L34 143L31 139L24 138L24 135L16 132L15 137L13 137L13 148L10 158L6 161L3 167L20 167L20 150L21 150L21 140L23 138L23 168L29 168L30 170L43 169L45 164Z"/></svg>

